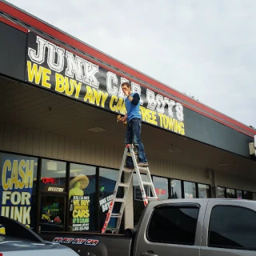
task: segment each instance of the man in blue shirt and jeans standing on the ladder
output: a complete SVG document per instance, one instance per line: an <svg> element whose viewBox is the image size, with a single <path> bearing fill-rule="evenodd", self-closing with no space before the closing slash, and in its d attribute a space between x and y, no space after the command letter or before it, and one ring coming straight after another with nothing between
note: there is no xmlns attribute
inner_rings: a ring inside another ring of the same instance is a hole
<svg viewBox="0 0 256 256"><path fill-rule="evenodd" d="M146 154L141 140L142 116L139 112L140 97L138 93L131 92L130 84L128 82L122 83L122 91L126 95L125 104L127 114L123 118L121 118L121 121L128 121L125 144L132 144L134 141L134 145L137 146L138 150L138 166L149 166L146 160ZM130 156L126 158L125 168L134 169L134 163Z"/></svg>

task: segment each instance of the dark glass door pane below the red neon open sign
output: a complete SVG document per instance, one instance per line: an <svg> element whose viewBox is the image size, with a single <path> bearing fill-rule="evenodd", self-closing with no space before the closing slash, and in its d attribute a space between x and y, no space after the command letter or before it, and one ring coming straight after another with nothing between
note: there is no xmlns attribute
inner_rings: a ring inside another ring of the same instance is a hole
<svg viewBox="0 0 256 256"><path fill-rule="evenodd" d="M63 231L65 196L42 195L40 210L40 231Z"/></svg>

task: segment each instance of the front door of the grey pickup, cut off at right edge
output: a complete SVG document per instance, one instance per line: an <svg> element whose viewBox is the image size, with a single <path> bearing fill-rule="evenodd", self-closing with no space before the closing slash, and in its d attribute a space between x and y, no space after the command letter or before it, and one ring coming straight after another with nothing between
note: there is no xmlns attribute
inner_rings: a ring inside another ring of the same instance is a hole
<svg viewBox="0 0 256 256"><path fill-rule="evenodd" d="M256 203L209 202L202 233L201 256L256 255Z"/></svg>

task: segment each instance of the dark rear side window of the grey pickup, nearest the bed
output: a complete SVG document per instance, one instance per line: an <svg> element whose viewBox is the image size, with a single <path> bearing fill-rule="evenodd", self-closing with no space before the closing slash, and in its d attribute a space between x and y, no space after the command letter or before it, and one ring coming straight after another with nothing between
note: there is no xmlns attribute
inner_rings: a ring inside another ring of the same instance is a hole
<svg viewBox="0 0 256 256"><path fill-rule="evenodd" d="M161 206L150 219L147 239L150 242L194 245L199 208Z"/></svg>

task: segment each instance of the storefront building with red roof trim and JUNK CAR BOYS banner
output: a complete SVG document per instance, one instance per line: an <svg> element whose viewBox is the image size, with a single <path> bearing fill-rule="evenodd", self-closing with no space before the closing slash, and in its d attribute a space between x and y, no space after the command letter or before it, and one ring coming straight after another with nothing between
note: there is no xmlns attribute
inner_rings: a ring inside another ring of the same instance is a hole
<svg viewBox="0 0 256 256"><path fill-rule="evenodd" d="M101 230L124 150L125 81L142 98L160 200L256 198L255 130L7 2L0 11L2 216L36 232ZM134 177L122 228L143 207Z"/></svg>

